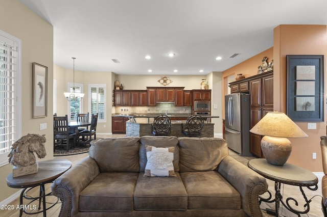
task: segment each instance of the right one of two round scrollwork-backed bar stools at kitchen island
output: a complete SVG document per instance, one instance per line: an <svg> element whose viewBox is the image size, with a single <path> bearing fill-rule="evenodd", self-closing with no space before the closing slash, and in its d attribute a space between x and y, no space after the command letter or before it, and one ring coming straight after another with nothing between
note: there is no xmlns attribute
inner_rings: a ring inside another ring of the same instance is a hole
<svg viewBox="0 0 327 217"><path fill-rule="evenodd" d="M203 118L199 115L191 115L186 124L182 124L182 132L186 137L200 137L204 125Z"/></svg>

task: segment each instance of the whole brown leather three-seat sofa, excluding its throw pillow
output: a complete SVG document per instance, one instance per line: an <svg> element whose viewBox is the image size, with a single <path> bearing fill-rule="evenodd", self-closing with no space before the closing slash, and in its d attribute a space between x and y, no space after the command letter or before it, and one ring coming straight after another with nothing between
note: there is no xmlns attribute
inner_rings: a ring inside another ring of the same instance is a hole
<svg viewBox="0 0 327 217"><path fill-rule="evenodd" d="M174 147L176 177L145 177L146 145ZM60 216L262 216L266 179L219 138L141 137L91 142L89 156L52 184Z"/></svg>

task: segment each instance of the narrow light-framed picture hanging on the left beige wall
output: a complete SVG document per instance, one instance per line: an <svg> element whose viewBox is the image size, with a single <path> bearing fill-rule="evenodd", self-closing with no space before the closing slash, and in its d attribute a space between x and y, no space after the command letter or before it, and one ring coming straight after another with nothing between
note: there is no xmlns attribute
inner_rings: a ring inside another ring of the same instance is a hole
<svg viewBox="0 0 327 217"><path fill-rule="evenodd" d="M32 63L32 118L46 117L48 107L48 67Z"/></svg>

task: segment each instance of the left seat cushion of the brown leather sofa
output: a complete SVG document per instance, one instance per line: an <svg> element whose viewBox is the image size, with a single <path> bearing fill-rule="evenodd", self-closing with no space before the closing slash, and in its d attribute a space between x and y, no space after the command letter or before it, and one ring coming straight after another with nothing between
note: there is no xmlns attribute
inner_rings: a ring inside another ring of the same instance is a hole
<svg viewBox="0 0 327 217"><path fill-rule="evenodd" d="M138 173L100 173L79 197L80 211L132 211Z"/></svg>

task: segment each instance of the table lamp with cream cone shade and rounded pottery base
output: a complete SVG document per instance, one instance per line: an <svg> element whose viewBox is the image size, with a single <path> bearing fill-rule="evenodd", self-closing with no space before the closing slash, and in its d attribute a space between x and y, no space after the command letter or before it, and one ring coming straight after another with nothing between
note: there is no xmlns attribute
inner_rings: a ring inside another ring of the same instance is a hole
<svg viewBox="0 0 327 217"><path fill-rule="evenodd" d="M277 166L283 166L292 151L291 142L286 138L308 137L282 112L267 113L250 132L264 135L261 140L262 153L269 164Z"/></svg>

